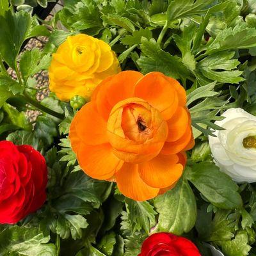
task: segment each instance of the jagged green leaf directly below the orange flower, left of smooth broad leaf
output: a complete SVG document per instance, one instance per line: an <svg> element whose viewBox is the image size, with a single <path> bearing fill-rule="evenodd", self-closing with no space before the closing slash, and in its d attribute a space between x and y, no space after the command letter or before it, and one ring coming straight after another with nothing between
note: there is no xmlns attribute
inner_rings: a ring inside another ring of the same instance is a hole
<svg viewBox="0 0 256 256"><path fill-rule="evenodd" d="M143 229L149 234L150 228L156 224L154 207L147 201L138 202L129 198L125 199L125 205L132 232Z"/></svg>

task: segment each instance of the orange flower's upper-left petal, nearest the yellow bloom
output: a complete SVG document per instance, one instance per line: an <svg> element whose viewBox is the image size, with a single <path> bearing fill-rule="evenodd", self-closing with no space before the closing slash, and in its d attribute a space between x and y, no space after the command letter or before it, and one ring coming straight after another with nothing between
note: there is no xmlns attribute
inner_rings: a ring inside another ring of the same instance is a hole
<svg viewBox="0 0 256 256"><path fill-rule="evenodd" d="M97 109L105 120L108 120L109 113L117 102L134 96L135 85L141 77L143 74L140 72L129 70L108 77L100 83L92 99L96 98Z"/></svg>

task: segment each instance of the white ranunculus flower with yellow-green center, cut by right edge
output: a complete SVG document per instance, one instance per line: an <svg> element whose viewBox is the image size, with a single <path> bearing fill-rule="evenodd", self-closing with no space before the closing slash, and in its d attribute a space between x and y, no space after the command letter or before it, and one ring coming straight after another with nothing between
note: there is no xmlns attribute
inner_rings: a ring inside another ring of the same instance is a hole
<svg viewBox="0 0 256 256"><path fill-rule="evenodd" d="M236 182L256 182L256 116L241 108L223 113L215 124L225 130L209 136L212 156L220 170Z"/></svg>

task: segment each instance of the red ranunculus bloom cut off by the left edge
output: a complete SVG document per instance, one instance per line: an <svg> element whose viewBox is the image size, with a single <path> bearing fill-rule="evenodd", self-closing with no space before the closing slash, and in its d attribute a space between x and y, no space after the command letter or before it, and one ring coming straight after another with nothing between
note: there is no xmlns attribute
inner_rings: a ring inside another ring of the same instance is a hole
<svg viewBox="0 0 256 256"><path fill-rule="evenodd" d="M46 199L44 157L29 145L0 141L0 223L16 223Z"/></svg>

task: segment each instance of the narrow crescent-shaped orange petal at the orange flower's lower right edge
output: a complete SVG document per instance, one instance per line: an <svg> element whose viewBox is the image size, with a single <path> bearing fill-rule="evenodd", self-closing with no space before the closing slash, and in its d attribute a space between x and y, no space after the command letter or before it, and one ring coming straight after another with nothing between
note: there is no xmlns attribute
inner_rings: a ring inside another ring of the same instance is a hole
<svg viewBox="0 0 256 256"><path fill-rule="evenodd" d="M177 154L185 150L193 137L191 126L188 125L185 134L177 141L164 143L164 147L161 150L161 154Z"/></svg>

